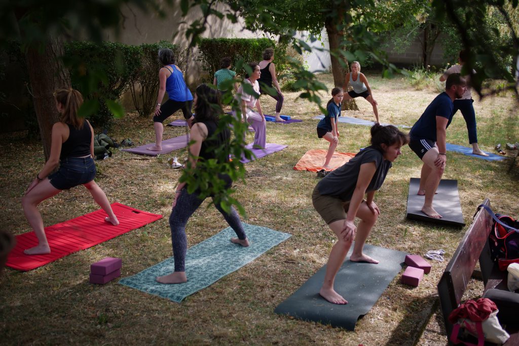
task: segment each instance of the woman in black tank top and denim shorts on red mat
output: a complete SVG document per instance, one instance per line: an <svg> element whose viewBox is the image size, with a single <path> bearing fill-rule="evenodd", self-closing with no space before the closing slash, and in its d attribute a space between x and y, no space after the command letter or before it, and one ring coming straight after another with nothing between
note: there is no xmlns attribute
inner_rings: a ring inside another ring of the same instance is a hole
<svg viewBox="0 0 519 346"><path fill-rule="evenodd" d="M77 185L85 186L94 201L108 214L105 220L119 225L103 190L94 182L94 131L88 120L77 116L83 97L72 88L54 92L60 121L52 126L50 156L43 169L36 174L22 198L23 212L31 225L38 245L24 251L26 255L50 254L45 236L42 215L37 206L40 202ZM50 174L58 165L57 172Z"/></svg>

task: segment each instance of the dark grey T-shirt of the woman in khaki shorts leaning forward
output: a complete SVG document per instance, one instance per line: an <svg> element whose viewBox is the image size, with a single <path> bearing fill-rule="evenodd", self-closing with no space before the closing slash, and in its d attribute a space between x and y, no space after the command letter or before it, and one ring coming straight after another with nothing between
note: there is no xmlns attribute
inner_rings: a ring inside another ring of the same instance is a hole
<svg viewBox="0 0 519 346"><path fill-rule="evenodd" d="M354 158L341 167L327 174L318 184L321 195L334 196L345 202L351 200L357 186L360 166L363 163L375 162L377 170L367 186L366 192L376 191L384 183L384 179L391 168L391 162L384 159L380 151L372 146L361 150Z"/></svg>

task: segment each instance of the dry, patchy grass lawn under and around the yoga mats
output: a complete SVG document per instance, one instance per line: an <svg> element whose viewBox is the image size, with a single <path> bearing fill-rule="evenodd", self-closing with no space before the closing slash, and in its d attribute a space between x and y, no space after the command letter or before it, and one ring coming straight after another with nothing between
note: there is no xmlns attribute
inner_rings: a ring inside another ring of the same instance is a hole
<svg viewBox="0 0 519 346"><path fill-rule="evenodd" d="M320 79L331 89L331 75ZM402 77L391 80L369 75L382 122L411 126L436 96L415 90ZM90 264L106 256L121 257L122 277L140 272L171 254L168 217L180 171L167 167L167 159L187 157L185 149L158 158L115 150L111 159L98 162L97 182L111 202L160 213L151 225L74 253L29 272L6 269L0 280L0 343L5 344L280 344L280 345L420 345L445 344L436 284L467 227L444 228L405 219L409 178L419 177L421 162L403 148L375 201L381 210L367 242L423 255L443 248L444 262L434 262L420 286L391 282L372 310L357 323L356 331L331 328L274 314L275 307L326 263L335 241L333 233L313 209L310 199L317 184L315 173L294 171L295 163L309 149L326 149L316 135L316 105L285 93L283 114L303 123L267 123L267 142L288 148L245 165L245 183L235 183L235 198L247 211L250 224L289 232L293 237L272 248L249 265L231 273L181 304L117 284L88 283ZM323 94L323 102L330 98ZM265 113L274 112L275 101L262 97ZM348 116L373 120L372 107L357 99L360 110ZM511 94L475 101L480 147L494 151L497 143L519 141L517 102ZM170 121L181 118L177 113ZM356 153L368 145L369 128L339 123L337 151ZM186 128L165 128L164 139L184 134ZM117 141L135 144L154 139L150 118L129 114L115 120L109 133ZM249 135L249 141L252 136ZM449 143L469 146L465 121L456 114L447 130ZM2 227L15 234L29 231L20 199L24 189L43 167L42 146L27 141L24 132L0 138L0 216ZM515 152L507 153L509 157ZM467 225L484 198L496 212L519 217L519 168L507 173L509 160L488 162L448 153L444 178L458 179L463 217ZM77 187L44 201L39 210L45 225L97 210L86 189ZM209 200L190 218L188 246L227 227ZM189 270L189 268L187 268ZM467 298L481 294L474 281ZM348 299L348 296L345 296ZM423 333L422 333L423 331Z"/></svg>

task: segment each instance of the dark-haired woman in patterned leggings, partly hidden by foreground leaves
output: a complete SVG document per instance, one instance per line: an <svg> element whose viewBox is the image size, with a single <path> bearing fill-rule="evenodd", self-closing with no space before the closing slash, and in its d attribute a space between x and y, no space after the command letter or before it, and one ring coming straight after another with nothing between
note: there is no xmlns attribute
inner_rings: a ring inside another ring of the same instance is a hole
<svg viewBox="0 0 519 346"><path fill-rule="evenodd" d="M190 155L187 164L190 164L192 168L196 168L196 158L199 161L217 159L215 155L215 149L217 148L225 148L227 151L225 158L226 162L228 162L230 130L227 128L221 132L217 130L220 115L223 114L220 94L206 84L202 84L195 91L194 106L196 119L190 131L190 140L195 143L189 145ZM233 183L230 177L226 174L219 174L218 176L226 183L225 188L230 188ZM186 183L177 185L169 217L175 269L168 275L158 276L156 279L158 282L163 284L180 284L187 281L184 267L187 252L186 224L189 217L193 215L203 201L204 199L199 197L199 192L187 192ZM245 236L240 217L234 207L231 206L230 213L227 214L220 204L214 203L214 206L222 213L229 226L234 229L238 236L238 238L231 238L230 241L241 246L249 246L249 240Z"/></svg>

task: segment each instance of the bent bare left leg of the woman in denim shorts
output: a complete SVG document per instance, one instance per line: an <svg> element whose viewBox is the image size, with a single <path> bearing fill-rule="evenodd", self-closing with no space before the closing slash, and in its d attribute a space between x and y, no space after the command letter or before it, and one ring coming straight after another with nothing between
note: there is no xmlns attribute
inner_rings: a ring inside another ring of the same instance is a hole
<svg viewBox="0 0 519 346"><path fill-rule="evenodd" d="M60 192L61 190L53 187L50 184L49 179L46 178L23 196L23 213L38 238L38 245L23 251L26 255L50 254L50 247L47 242L47 237L45 236L42 214L39 213L37 206L42 201L52 196L56 196Z"/></svg>

